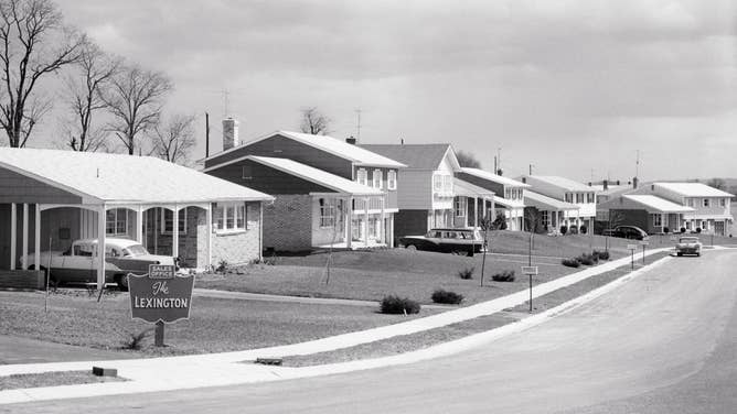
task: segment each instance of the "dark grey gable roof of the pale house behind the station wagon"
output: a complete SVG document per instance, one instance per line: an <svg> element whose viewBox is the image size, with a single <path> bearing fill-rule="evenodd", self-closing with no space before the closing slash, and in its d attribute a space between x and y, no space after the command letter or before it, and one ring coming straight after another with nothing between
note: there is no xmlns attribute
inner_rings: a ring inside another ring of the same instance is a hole
<svg viewBox="0 0 737 414"><path fill-rule="evenodd" d="M450 144L362 144L361 148L392 157L407 165L409 170L437 170L448 155L452 168L460 170Z"/></svg>

